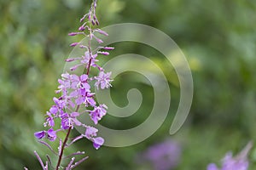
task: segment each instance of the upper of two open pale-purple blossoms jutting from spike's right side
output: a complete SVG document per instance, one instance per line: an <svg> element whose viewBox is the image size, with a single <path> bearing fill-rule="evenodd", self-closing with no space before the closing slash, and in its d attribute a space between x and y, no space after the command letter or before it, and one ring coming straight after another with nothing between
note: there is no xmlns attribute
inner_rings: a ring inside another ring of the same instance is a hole
<svg viewBox="0 0 256 170"><path fill-rule="evenodd" d="M96 88L99 89L99 86L101 86L102 89L111 87L110 82L112 82L113 80L110 79L110 76L111 76L111 72L104 73L103 71L101 71L99 73L99 76L95 77Z"/></svg>

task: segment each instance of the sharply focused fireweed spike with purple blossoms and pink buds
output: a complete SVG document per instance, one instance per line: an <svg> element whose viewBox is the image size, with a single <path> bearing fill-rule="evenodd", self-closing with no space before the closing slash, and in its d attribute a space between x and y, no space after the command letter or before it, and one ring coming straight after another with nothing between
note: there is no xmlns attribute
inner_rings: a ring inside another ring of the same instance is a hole
<svg viewBox="0 0 256 170"><path fill-rule="evenodd" d="M61 74L61 79L58 80L59 86L55 90L55 94L58 97L54 97L54 105L52 105L49 111L46 112L46 118L44 122L44 127L46 130L34 133L34 136L39 140L41 144L46 145L49 150L51 150L56 156L58 156L57 164L55 165L55 170L66 169L71 170L77 167L81 162L86 160L88 156L75 162L74 156L84 155L84 152L77 151L71 156L63 156L64 150L79 139L89 139L92 142L93 147L98 150L104 143L102 137L97 137L98 129L96 127L90 127L79 121L79 116L81 114L89 114L92 122L97 124L103 116L107 114L108 106L104 104L97 104L95 94L91 91L92 87L90 84L94 84L96 88L109 88L111 87L111 72L104 72L104 69L97 65L98 55L108 55L109 53L104 50L113 50L112 47L102 47L99 46L96 49L92 49L91 41L96 40L98 43L102 43L102 39L96 37L95 33L108 36L108 33L102 31L99 28L94 28L95 25L99 25L99 21L96 18L96 0L93 0L90 6L90 10L87 14L84 14L83 18L80 20L82 23L79 26L78 32L71 32L69 36L81 36L89 38L88 44L80 44L80 42L73 42L70 44L71 47L79 46L79 48L84 49L84 55L78 56L76 58L66 59L66 62L76 62L76 65L70 67L70 71ZM76 75L73 73L78 67L83 67L85 74ZM95 67L99 70L97 77L90 76L90 68ZM92 83L90 83L92 82ZM79 112L79 109L84 108L85 112ZM69 135L73 130L74 126L84 127L84 133L70 139ZM65 132L66 136L64 139L58 137L59 132ZM51 147L51 142L58 141L59 147L54 150ZM43 170L46 170L53 165L49 156L47 156L48 161L45 163L42 161L40 156L36 151L35 155L40 162ZM62 159L70 158L69 163L64 167L61 165ZM26 167L24 167L27 169Z"/></svg>

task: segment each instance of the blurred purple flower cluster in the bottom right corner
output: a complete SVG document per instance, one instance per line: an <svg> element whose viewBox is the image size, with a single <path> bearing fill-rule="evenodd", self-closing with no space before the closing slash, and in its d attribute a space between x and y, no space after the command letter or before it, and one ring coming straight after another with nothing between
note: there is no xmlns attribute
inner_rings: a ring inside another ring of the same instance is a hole
<svg viewBox="0 0 256 170"><path fill-rule="evenodd" d="M249 167L247 154L251 148L252 143L247 144L247 146L241 150L241 153L236 157L233 157L232 153L229 152L224 156L221 168L218 168L216 164L211 163L208 165L207 170L247 170Z"/></svg>

